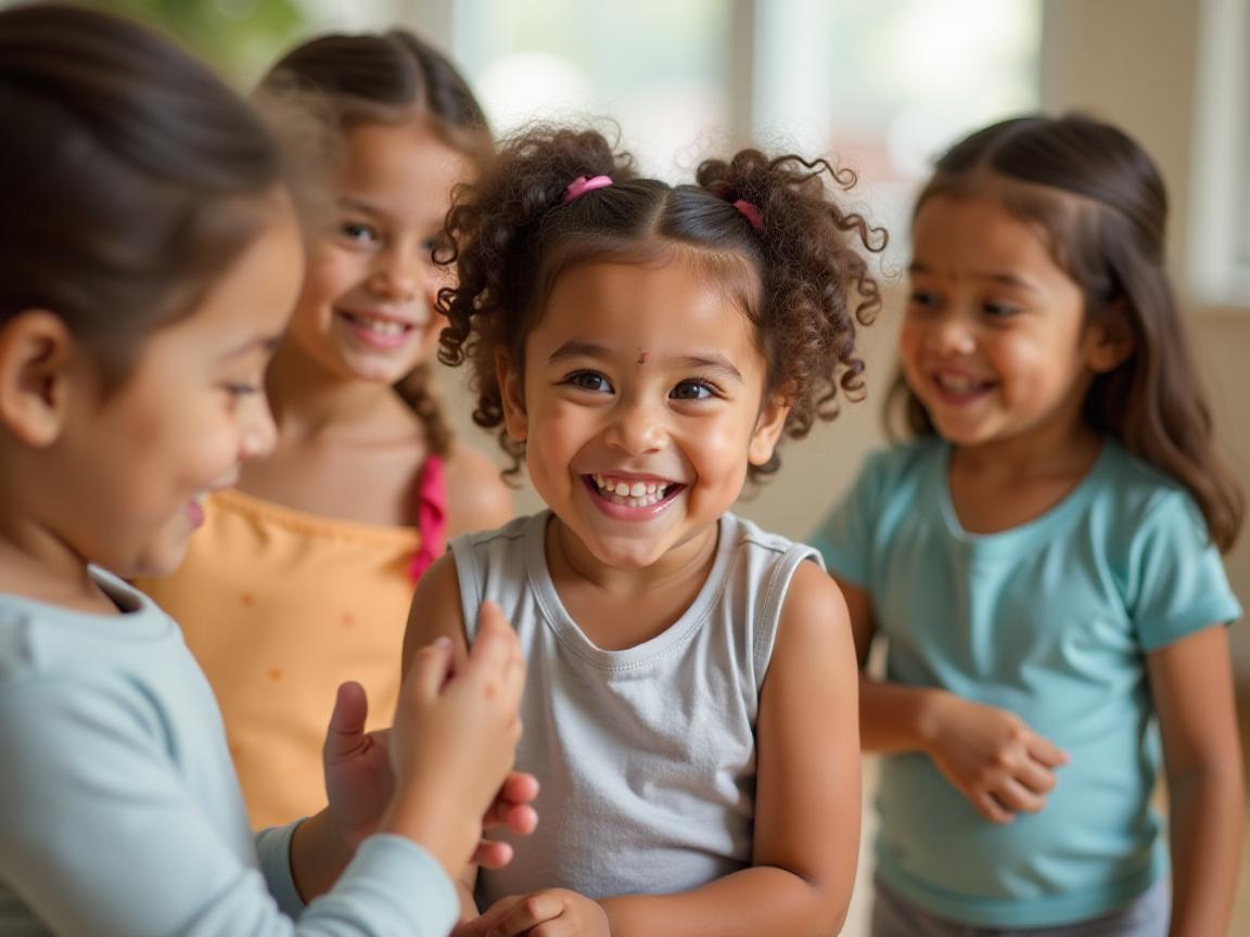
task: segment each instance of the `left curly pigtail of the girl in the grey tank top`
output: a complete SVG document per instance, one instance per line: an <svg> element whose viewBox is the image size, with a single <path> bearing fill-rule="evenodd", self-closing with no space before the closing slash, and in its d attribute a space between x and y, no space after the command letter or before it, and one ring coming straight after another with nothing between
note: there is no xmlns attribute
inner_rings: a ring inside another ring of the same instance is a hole
<svg viewBox="0 0 1250 937"><path fill-rule="evenodd" d="M456 191L448 212L449 241L434 259L455 266L456 286L439 291L439 310L449 322L439 360L470 362L478 396L472 419L482 429L502 426L496 351L518 366L524 360L524 339L536 315L540 240L549 216L566 207L565 191L579 176L625 181L634 176L632 160L596 131L530 127L504 142L485 179ZM499 440L512 457L505 476L515 476L525 446L504 429Z"/></svg>

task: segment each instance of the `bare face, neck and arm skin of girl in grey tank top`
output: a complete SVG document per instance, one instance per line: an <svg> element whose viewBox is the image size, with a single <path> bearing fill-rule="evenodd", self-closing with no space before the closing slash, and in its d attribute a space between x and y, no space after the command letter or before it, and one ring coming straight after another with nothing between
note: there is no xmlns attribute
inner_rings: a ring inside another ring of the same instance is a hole
<svg viewBox="0 0 1250 937"><path fill-rule="evenodd" d="M525 344L524 376L506 360L500 376L508 431L526 441L530 477L555 515L546 553L562 603L604 648L662 632L706 578L718 520L748 465L768 461L784 426L786 404L765 395L749 321L688 257L590 264L554 285ZM622 507L599 493L596 476L666 493L658 505ZM414 608L431 607L438 613L410 618L406 643L445 635L464 653L450 557L419 585ZM751 867L678 895L592 901L552 887L501 900L458 933L836 932L859 838L854 666L841 597L805 563L760 700Z"/></svg>

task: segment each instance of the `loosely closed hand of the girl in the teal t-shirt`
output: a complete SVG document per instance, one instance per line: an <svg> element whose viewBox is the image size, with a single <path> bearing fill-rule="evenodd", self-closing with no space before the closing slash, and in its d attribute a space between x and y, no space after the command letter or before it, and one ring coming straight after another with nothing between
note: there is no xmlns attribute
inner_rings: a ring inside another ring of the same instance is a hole
<svg viewBox="0 0 1250 937"><path fill-rule="evenodd" d="M930 720L928 753L976 811L1009 823L1036 813L1068 755L1006 710L942 693Z"/></svg>

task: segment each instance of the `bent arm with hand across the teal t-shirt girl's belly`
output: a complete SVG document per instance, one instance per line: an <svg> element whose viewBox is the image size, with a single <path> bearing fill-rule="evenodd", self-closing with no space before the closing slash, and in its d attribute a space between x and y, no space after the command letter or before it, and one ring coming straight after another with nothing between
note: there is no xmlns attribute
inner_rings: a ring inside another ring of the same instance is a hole
<svg viewBox="0 0 1250 937"><path fill-rule="evenodd" d="M876 635L868 592L839 581L851 618L860 673L865 751L925 752L986 820L1036 812L1068 757L1015 713L936 687L874 680L862 672Z"/></svg>

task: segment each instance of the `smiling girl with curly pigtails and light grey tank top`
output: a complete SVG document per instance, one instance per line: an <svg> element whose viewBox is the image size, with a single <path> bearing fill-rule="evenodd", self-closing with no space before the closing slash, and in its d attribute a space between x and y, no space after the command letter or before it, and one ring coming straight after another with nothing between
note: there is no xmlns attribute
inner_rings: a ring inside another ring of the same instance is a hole
<svg viewBox="0 0 1250 937"><path fill-rule="evenodd" d="M464 653L481 603L502 606L529 661L519 766L560 812L512 875L481 873L465 933L801 937L842 920L845 608L814 551L729 513L782 435L860 384L878 291L855 249L875 232L826 175L852 182L746 150L672 187L596 132L538 129L449 215L442 356L469 360L476 421L550 510L452 541L409 642Z"/></svg>

